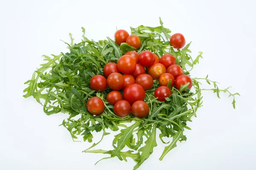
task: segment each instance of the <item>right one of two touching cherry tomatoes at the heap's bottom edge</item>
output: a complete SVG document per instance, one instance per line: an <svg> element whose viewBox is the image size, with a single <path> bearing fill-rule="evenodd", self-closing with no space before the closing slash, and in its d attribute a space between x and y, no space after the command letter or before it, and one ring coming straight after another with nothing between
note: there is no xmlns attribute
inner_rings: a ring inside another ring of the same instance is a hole
<svg viewBox="0 0 256 170"><path fill-rule="evenodd" d="M138 116L140 118L148 116L148 113L149 113L148 104L141 100L134 102L134 104L132 104L131 106L131 113L133 113L134 116Z"/></svg>

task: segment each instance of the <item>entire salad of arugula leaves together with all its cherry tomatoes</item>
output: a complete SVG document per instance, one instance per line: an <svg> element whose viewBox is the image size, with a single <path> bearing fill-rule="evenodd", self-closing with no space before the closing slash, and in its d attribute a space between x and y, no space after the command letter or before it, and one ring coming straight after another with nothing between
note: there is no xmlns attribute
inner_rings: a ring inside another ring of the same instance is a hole
<svg viewBox="0 0 256 170"><path fill-rule="evenodd" d="M131 34L117 30L114 39L88 40L82 28L82 40L71 43L69 52L48 57L32 78L24 97L33 96L47 115L68 115L61 126L67 128L76 141L93 142L93 133L102 138L83 152L102 153L103 159L118 157L135 161L134 170L153 153L157 137L166 145L160 160L186 141L185 129L191 130L198 108L202 106L202 91L213 91L235 96L230 88L219 89L218 83L190 75L199 63L202 52L192 58L183 34L170 34L160 26L138 26ZM195 77L195 78L192 78ZM212 89L201 89L201 83ZM158 129L158 130L157 130ZM112 131L113 149L94 149ZM157 131L160 131L159 136Z"/></svg>

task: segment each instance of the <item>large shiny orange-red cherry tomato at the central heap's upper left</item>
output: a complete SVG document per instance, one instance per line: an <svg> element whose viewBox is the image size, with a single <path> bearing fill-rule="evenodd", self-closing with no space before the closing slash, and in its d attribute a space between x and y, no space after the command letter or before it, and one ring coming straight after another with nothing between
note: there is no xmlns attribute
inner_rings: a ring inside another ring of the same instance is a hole
<svg viewBox="0 0 256 170"><path fill-rule="evenodd" d="M130 55L123 55L118 59L117 67L123 74L129 74L136 68L136 60Z"/></svg>

